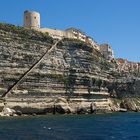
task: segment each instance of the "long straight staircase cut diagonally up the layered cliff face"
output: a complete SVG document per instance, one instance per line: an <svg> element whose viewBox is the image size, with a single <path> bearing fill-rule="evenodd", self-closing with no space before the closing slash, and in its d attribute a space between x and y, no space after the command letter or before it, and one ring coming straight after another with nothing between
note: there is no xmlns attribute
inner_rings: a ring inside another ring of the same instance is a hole
<svg viewBox="0 0 140 140"><path fill-rule="evenodd" d="M62 39L61 39L62 40ZM56 43L54 45L52 45L52 47L50 49L47 49L46 52L41 56L41 58L34 63L19 79L18 81L16 81L3 95L2 98L5 97L6 95L8 95L9 93L11 93L17 86L18 84L23 81L23 79L46 57L46 55L48 55L50 52L52 52L55 47L57 46L57 44L61 41L58 40L56 41Z"/></svg>

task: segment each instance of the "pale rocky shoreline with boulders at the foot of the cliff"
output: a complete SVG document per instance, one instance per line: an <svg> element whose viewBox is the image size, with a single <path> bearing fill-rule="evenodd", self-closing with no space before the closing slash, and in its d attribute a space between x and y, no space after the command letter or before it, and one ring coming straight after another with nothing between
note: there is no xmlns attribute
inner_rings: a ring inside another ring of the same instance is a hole
<svg viewBox="0 0 140 140"><path fill-rule="evenodd" d="M15 99L14 99L15 100ZM47 102L34 101L14 101L13 99L0 104L0 116L36 116L48 114L98 114L113 112L139 112L140 106L130 99L120 100L118 102L109 99L106 104L93 102L73 102L67 101L65 98L50 99Z"/></svg>

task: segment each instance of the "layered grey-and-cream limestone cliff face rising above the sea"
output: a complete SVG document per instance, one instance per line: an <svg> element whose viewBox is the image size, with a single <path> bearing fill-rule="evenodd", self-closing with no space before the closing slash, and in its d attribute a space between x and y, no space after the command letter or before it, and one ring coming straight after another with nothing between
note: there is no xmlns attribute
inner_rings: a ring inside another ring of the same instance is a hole
<svg viewBox="0 0 140 140"><path fill-rule="evenodd" d="M138 75L119 73L115 62L106 61L79 40L59 41L32 68L56 42L47 34L0 24L0 96L23 77L2 98L1 110L24 114L118 111L120 104L114 99L140 95Z"/></svg>

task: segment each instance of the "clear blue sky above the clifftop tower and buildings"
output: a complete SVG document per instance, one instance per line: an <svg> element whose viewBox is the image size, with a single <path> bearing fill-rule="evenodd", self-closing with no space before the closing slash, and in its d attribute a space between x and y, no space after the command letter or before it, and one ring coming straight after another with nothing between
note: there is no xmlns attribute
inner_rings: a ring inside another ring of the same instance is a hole
<svg viewBox="0 0 140 140"><path fill-rule="evenodd" d="M140 0L1 0L0 22L23 25L25 10L41 14L41 26L76 27L116 57L140 62Z"/></svg>

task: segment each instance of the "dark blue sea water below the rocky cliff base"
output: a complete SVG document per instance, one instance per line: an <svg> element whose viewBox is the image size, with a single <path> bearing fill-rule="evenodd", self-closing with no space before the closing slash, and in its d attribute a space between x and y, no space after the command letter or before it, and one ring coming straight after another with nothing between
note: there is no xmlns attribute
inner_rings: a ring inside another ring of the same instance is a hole
<svg viewBox="0 0 140 140"><path fill-rule="evenodd" d="M0 140L140 140L140 113L0 118Z"/></svg>

